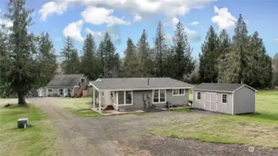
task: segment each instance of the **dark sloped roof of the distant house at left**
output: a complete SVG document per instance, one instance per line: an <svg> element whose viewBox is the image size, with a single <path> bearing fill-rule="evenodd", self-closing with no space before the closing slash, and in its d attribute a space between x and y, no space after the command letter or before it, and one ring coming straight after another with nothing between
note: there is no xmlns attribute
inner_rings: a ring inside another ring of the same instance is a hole
<svg viewBox="0 0 278 156"><path fill-rule="evenodd" d="M83 74L56 75L50 80L47 87L74 87L83 76Z"/></svg>

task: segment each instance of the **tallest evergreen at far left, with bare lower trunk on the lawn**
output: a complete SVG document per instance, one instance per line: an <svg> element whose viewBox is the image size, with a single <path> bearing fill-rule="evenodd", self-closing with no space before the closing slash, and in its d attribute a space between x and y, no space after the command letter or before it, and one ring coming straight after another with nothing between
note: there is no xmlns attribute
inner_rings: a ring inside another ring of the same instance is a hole
<svg viewBox="0 0 278 156"><path fill-rule="evenodd" d="M2 96L17 94L19 105L26 104L25 96L28 92L38 89L44 83L44 68L48 64L40 62L39 53L49 53L49 46L39 46L35 35L28 33L32 24L33 10L25 8L25 0L10 0L7 5L6 19L13 22L8 28L9 33L1 32L0 44L0 92ZM46 48L47 47L47 48ZM3 48L3 49L2 49ZM45 49L44 49L45 48ZM40 52L38 51L40 49ZM41 55L40 55L41 56ZM44 60L51 60L51 55L44 55ZM50 73L52 74L52 73Z"/></svg>

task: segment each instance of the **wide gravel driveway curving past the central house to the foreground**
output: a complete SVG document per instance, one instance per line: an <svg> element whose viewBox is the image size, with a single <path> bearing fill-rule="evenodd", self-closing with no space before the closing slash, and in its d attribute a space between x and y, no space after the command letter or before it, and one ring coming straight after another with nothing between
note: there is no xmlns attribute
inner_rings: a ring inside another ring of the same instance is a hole
<svg viewBox="0 0 278 156"><path fill-rule="evenodd" d="M161 138L148 135L147 128L188 122L210 112L152 112L141 115L79 117L67 112L53 98L28 98L40 105L62 135L61 155L97 156L181 156L181 155L278 155L277 149L206 143L191 139Z"/></svg>

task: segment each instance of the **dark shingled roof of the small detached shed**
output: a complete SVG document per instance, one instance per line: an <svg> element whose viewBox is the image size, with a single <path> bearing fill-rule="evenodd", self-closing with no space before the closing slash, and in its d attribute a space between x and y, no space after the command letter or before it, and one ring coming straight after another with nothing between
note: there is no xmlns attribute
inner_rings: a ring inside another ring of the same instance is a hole
<svg viewBox="0 0 278 156"><path fill-rule="evenodd" d="M214 92L236 92L237 89L246 86L250 89L253 89L255 92L256 89L245 85L245 84L232 84L232 83L201 83L197 85L193 90L204 90L204 91L214 91Z"/></svg>

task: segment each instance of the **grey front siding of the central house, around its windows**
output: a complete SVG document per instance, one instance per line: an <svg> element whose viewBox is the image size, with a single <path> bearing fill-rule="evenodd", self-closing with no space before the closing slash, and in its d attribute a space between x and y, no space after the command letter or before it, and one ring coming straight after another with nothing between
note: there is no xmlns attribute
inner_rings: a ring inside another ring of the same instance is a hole
<svg viewBox="0 0 278 156"><path fill-rule="evenodd" d="M145 96L149 95L149 98L145 104L143 101L143 94ZM142 110L144 107L148 107L149 104L155 105L156 107L165 107L167 101L170 101L172 105L188 105L189 99L188 89L185 89L185 95L183 96L173 96L172 89L166 89L166 101L163 103L153 103L152 96L152 90L133 91L133 105L118 105L118 108L119 110Z"/></svg>

